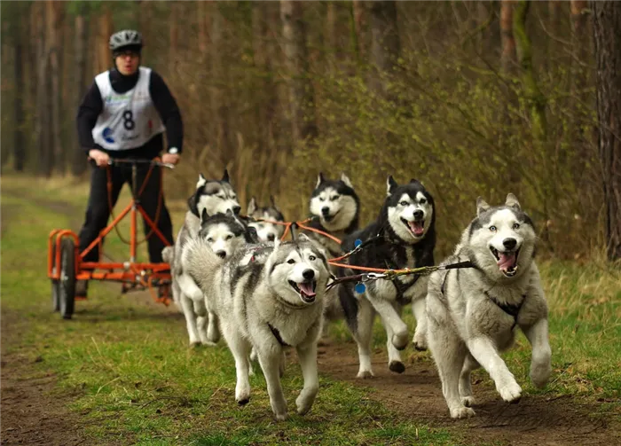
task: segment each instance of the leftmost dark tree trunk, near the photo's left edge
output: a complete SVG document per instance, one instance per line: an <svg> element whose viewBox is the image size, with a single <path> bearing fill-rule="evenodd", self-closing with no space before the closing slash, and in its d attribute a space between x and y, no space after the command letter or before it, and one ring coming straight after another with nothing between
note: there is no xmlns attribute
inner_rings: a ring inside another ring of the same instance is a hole
<svg viewBox="0 0 621 446"><path fill-rule="evenodd" d="M13 33L13 64L15 74L15 95L13 97L13 111L15 113L14 130L13 130L13 168L17 172L24 171L24 163L26 161L26 138L24 120L24 101L26 99L26 91L24 89L24 67L26 64L26 55L23 51L21 33L21 17L15 18L15 32Z"/></svg>

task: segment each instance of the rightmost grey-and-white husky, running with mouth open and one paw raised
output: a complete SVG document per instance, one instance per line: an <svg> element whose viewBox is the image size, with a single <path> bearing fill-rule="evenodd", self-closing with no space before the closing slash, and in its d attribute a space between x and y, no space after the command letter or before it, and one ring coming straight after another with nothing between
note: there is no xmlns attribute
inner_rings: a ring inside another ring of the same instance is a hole
<svg viewBox="0 0 621 446"><path fill-rule="evenodd" d="M443 263L470 261L473 269L440 270L428 283L429 349L454 419L475 415L470 372L483 366L500 396L517 402L522 388L499 352L511 347L519 326L532 345L531 379L550 376L547 304L534 262L536 232L531 218L509 193L504 206L481 197L476 218L454 254Z"/></svg>

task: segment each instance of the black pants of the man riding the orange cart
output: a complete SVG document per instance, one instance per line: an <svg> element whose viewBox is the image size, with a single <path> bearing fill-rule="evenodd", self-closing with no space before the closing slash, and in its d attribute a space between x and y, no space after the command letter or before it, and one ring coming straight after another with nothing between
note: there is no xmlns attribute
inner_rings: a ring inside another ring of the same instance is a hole
<svg viewBox="0 0 621 446"><path fill-rule="evenodd" d="M112 180L112 206L116 204L116 200L119 198L122 186L125 183L132 185L131 178L131 165L127 166L108 166L107 168L93 167L90 175L90 196L88 207L86 208L86 218L82 229L80 230L80 251L82 252L86 247L92 243L94 239L97 239L99 232L106 228L108 218L110 217L110 205L108 204L108 192L107 192L107 173L106 169L110 169L110 177ZM145 176L149 171L150 166L147 164L138 164L136 174L136 194L142 188L142 184L145 182ZM145 210L146 215L149 215L152 222L155 222L155 214L157 212L158 201L160 199L161 189L161 171L159 166L153 166L151 175L148 178L148 182L145 185L145 190L142 195L138 197L140 206ZM121 209L115 209L114 215L118 215ZM139 215L139 214L137 214ZM127 215L125 218L129 218ZM172 239L172 223L170 221L169 210L164 202L163 192L161 194L160 204L160 218L156 222L157 228L161 231L162 235L173 242ZM151 227L145 222L145 234L151 232ZM114 230L112 232L114 234ZM123 234L125 239L130 239L129 235ZM137 237L137 239L140 239ZM146 242L148 244L149 260L150 262L163 262L161 259L161 250L164 248L164 243L153 232L151 237ZM128 248L129 250L129 248ZM99 253L98 246L95 246L84 257L84 262L98 262Z"/></svg>

